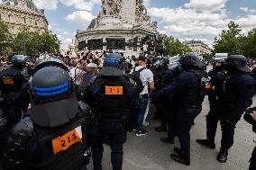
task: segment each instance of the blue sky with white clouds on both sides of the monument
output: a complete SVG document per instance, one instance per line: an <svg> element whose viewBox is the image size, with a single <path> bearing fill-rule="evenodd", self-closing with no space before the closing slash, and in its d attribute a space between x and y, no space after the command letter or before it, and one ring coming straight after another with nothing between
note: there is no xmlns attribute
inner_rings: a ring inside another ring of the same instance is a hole
<svg viewBox="0 0 256 170"><path fill-rule="evenodd" d="M100 10L101 0L34 0L45 9L50 30L59 36L63 49L75 39L76 30L86 30ZM215 37L230 21L244 33L256 28L256 0L145 0L151 20L159 31L179 40L204 40L213 45Z"/></svg>

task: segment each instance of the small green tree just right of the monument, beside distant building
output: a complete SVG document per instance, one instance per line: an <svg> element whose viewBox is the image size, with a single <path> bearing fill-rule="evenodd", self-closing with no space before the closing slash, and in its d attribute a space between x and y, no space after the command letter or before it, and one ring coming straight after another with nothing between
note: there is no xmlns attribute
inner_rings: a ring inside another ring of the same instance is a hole
<svg viewBox="0 0 256 170"><path fill-rule="evenodd" d="M178 39L174 39L173 37L166 37L163 40L163 45L166 54L169 54L170 56L176 56L178 54L192 52L187 44L182 43Z"/></svg>

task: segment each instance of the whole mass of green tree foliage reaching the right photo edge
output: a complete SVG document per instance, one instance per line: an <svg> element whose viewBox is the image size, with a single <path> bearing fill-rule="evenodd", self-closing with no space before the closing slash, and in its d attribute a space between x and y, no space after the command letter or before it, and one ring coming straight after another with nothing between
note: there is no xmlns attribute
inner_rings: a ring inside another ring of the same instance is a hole
<svg viewBox="0 0 256 170"><path fill-rule="evenodd" d="M215 53L242 54L247 58L256 58L256 29L242 34L239 24L229 22L228 30L222 31L219 38L215 38Z"/></svg>

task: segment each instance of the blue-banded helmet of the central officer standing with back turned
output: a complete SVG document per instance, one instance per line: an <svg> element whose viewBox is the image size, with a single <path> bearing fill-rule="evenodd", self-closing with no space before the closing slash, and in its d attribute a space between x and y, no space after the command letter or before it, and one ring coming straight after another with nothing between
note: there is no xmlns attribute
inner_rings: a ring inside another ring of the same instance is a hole
<svg viewBox="0 0 256 170"><path fill-rule="evenodd" d="M102 76L122 76L124 74L125 58L120 54L111 53L105 57L104 67L100 75Z"/></svg>

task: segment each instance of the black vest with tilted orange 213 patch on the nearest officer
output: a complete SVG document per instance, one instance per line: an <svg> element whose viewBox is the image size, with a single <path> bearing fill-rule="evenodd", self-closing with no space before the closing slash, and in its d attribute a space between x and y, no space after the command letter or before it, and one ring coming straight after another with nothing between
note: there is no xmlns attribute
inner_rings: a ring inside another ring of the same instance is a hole
<svg viewBox="0 0 256 170"><path fill-rule="evenodd" d="M78 113L77 118L69 124L57 128L34 126L36 139L43 154L32 169L79 170L86 165L84 154L87 151L87 145L83 131L85 120L79 114L81 113Z"/></svg>

